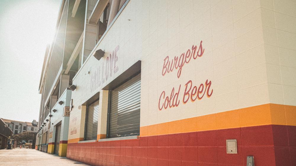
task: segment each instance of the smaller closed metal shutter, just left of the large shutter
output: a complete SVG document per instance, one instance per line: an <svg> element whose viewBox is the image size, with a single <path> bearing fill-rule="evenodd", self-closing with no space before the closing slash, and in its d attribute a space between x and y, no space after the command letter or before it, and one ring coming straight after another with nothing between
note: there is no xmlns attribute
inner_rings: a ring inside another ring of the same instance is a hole
<svg viewBox="0 0 296 166"><path fill-rule="evenodd" d="M85 140L94 140L98 133L99 100L88 106Z"/></svg>

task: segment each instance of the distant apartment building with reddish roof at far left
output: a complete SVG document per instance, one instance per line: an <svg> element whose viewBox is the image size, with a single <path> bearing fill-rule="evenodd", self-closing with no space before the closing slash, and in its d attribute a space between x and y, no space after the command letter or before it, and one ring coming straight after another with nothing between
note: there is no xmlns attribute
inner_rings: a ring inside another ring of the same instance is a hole
<svg viewBox="0 0 296 166"><path fill-rule="evenodd" d="M15 121L9 119L3 119L7 127L13 131L13 134L20 134L22 132L37 132L38 131L38 121L33 120L32 122L23 122L23 121ZM33 140L29 140L28 143L32 143Z"/></svg>

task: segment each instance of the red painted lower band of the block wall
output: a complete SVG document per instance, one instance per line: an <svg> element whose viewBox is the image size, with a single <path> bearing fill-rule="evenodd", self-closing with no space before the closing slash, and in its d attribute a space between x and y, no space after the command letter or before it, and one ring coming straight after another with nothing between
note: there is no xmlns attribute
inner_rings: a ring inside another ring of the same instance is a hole
<svg viewBox="0 0 296 166"><path fill-rule="evenodd" d="M226 154L237 139L238 154ZM89 165L296 165L296 126L266 125L168 134L140 139L68 143L67 158Z"/></svg>

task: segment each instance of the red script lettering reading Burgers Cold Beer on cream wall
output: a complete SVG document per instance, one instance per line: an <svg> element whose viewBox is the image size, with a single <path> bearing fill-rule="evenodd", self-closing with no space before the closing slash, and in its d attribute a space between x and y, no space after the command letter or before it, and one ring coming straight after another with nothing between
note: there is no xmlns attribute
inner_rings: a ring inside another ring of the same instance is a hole
<svg viewBox="0 0 296 166"><path fill-rule="evenodd" d="M173 72L175 69L178 70L177 77L180 78L182 68L185 64L188 64L191 59L195 60L197 57L202 57L205 49L202 49L202 41L200 41L200 46L197 50L197 46L192 45L191 49L188 49L186 54L185 52L180 55L180 57L175 56L172 60L169 59L169 56L165 57L163 60L163 70L162 75L164 76L167 73ZM186 104L189 99L191 102L194 102L196 99L201 100L204 96L208 98L212 96L213 89L210 90L212 82L205 80L205 83L201 83L200 86L192 87L192 80L189 80L185 83L185 90L183 93L182 102ZM166 95L163 91L159 96L158 109L167 109L171 107L177 107L180 103L179 94L180 94L181 84L179 85L178 91L175 93L175 88L173 87L170 95Z"/></svg>

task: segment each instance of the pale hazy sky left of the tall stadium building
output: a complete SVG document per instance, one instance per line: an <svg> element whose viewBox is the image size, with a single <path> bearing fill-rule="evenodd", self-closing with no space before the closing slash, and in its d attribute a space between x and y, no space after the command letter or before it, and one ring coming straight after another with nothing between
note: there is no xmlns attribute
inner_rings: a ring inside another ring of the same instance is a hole
<svg viewBox="0 0 296 166"><path fill-rule="evenodd" d="M0 118L38 121L46 45L61 0L0 0Z"/></svg>

